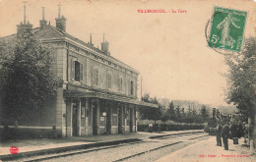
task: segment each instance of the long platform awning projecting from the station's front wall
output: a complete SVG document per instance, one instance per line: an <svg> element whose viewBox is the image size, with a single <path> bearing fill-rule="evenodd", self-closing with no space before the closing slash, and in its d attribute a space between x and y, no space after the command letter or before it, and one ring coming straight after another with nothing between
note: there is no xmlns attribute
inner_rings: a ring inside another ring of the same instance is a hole
<svg viewBox="0 0 256 162"><path fill-rule="evenodd" d="M81 91L65 90L64 95L67 98L100 98L100 99L107 99L107 100L114 100L118 102L136 104L139 106L159 108L157 104L142 102L129 97L118 96L118 95L107 94L107 93L100 93L100 92L81 92Z"/></svg>

